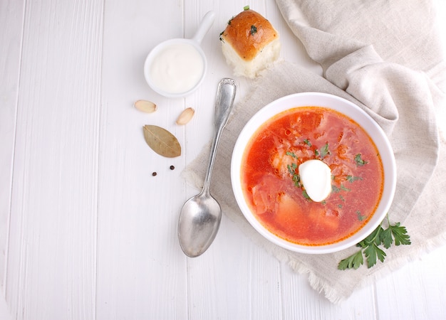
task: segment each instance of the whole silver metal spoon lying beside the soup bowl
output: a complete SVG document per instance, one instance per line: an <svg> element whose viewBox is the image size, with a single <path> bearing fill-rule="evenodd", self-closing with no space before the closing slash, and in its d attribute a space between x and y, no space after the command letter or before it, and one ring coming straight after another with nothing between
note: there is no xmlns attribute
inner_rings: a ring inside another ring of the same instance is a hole
<svg viewBox="0 0 446 320"><path fill-rule="evenodd" d="M224 78L219 82L214 113L214 139L202 191L186 201L178 222L180 246L189 257L198 257L207 250L220 226L222 209L210 193L214 159L222 130L232 110L236 92L235 81Z"/></svg>

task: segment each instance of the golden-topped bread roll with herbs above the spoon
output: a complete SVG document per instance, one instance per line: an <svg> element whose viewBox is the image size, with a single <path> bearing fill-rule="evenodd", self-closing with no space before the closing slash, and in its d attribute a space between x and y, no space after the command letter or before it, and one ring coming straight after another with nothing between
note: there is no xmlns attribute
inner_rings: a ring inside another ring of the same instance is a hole
<svg viewBox="0 0 446 320"><path fill-rule="evenodd" d="M220 33L222 52L234 75L255 78L279 58L279 33L266 18L245 9Z"/></svg>

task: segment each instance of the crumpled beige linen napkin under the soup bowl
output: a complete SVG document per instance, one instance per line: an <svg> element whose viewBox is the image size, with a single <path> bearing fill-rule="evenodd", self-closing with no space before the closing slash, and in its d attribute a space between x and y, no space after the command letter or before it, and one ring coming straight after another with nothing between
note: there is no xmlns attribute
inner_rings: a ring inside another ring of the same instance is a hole
<svg viewBox="0 0 446 320"><path fill-rule="evenodd" d="M370 2L370 3L369 3ZM419 3L420 2L420 3ZM422 2L422 3L421 3ZM249 97L236 106L220 142L212 193L225 215L258 245L299 273L331 302L338 302L423 252L446 242L445 141L437 113L445 108L446 68L429 1L276 0L285 20L323 67L323 77L286 61L276 63L253 83ZM390 221L408 228L412 245L386 250L384 263L368 269L337 270L351 247L328 255L303 255L281 249L251 228L231 189L230 161L239 132L269 102L295 92L327 92L350 100L385 130L395 152L398 183ZM202 186L209 148L183 172Z"/></svg>

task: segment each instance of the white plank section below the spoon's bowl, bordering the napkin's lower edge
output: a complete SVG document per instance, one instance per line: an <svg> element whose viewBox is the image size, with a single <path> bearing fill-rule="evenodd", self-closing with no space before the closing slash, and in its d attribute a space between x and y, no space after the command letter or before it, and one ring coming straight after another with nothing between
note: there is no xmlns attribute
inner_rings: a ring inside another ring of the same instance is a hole
<svg viewBox="0 0 446 320"><path fill-rule="evenodd" d="M189 319L281 319L279 263L222 219L212 247L188 260Z"/></svg>

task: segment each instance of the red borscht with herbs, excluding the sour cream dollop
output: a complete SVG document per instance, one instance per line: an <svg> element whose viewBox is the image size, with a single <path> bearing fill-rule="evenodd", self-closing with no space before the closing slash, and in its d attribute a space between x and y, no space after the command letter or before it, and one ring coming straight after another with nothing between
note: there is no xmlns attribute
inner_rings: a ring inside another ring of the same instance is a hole
<svg viewBox="0 0 446 320"><path fill-rule="evenodd" d="M353 119L323 107L296 107L265 122L244 151L242 187L257 220L300 245L327 245L370 220L383 193L383 164L372 139ZM331 169L331 193L311 201L299 165Z"/></svg>

